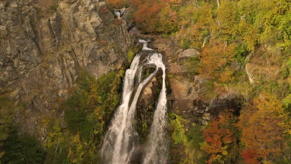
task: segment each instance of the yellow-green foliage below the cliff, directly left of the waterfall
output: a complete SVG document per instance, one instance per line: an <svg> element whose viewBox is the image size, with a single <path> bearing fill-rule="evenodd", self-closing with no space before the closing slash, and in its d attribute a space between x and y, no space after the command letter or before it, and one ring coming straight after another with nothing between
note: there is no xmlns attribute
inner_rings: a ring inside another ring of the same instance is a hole
<svg viewBox="0 0 291 164"><path fill-rule="evenodd" d="M63 103L68 129L60 120L50 120L46 164L96 163L106 125L116 109L121 91L123 69L109 72L97 80L79 70L76 86Z"/></svg>

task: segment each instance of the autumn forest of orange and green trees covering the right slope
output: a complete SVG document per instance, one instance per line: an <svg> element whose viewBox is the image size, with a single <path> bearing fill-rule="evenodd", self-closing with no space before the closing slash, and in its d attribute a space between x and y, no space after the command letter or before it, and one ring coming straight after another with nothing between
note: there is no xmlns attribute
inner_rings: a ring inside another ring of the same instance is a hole
<svg viewBox="0 0 291 164"><path fill-rule="evenodd" d="M209 90L213 93L209 95L217 94L217 89L225 86L226 92L242 96L239 114L226 109L202 128L203 138L193 139L191 129L188 132L180 129L183 119L176 120L178 125L173 124L172 138L187 149L189 159L185 158L183 163L191 163L191 156L197 155L195 151L202 151L209 164L234 163L239 159L246 164L290 164L289 0L108 0L108 3L115 8L130 6L130 19L145 33L161 34L183 48L201 50L198 64L197 60L190 64L196 67L194 74L210 80ZM252 85L242 69L250 63L250 56L258 75ZM272 71L277 71L274 77L270 76Z"/></svg>

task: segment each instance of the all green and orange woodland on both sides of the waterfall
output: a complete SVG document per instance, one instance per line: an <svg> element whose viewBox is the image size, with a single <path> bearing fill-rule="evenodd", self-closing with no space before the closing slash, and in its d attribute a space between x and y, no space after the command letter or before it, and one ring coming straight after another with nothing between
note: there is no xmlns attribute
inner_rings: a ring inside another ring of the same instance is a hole
<svg viewBox="0 0 291 164"><path fill-rule="evenodd" d="M145 34L163 35L182 48L199 49L201 55L188 65L190 75L209 80L206 98L217 96L218 91L240 95L239 111L225 109L208 125L168 113L173 163L291 164L290 0L107 3L111 8L129 7L128 19ZM129 58L135 53L130 51ZM250 62L256 65L252 84L245 71ZM60 120L43 116L43 125L49 127L44 144L30 135L16 134L13 101L1 98L2 163L98 162L111 112L119 103L124 69L98 80L80 72L71 96L60 98L56 106L64 109L68 128L61 129Z"/></svg>

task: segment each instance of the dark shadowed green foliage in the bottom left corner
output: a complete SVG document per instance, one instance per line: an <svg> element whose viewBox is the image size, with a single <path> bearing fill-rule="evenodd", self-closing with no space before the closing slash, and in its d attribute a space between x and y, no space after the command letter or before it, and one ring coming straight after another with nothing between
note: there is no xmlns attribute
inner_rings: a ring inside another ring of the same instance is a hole
<svg viewBox="0 0 291 164"><path fill-rule="evenodd" d="M15 106L15 101L0 96L0 163L37 164L42 163L45 151L39 141L29 135L18 135L15 115L23 110L24 104Z"/></svg>

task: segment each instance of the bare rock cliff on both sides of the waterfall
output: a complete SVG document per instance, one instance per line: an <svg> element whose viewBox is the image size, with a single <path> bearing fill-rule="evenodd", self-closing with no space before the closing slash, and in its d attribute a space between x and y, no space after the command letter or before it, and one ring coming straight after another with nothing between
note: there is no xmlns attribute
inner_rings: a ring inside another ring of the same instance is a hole
<svg viewBox="0 0 291 164"><path fill-rule="evenodd" d="M141 37L145 36L135 39ZM133 39L125 21L114 18L105 2L1 1L0 90L15 99L16 106L25 104L25 110L17 112L22 132L44 141L43 116L64 118L59 101L68 98L80 70L97 79L120 69L128 62ZM198 50L183 50L162 37L154 37L149 47L161 52L166 63L169 110L191 122L207 123L212 115L232 105L230 95L202 96L206 80L195 74ZM192 65L187 65L192 60ZM158 74L148 84L140 99L140 106L146 109L138 113L148 125L160 78Z"/></svg>

